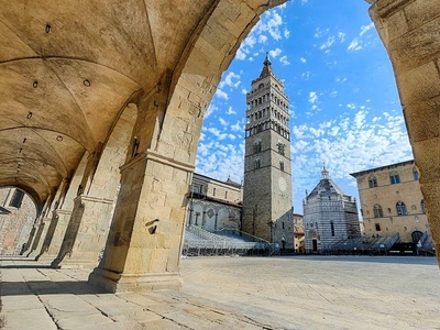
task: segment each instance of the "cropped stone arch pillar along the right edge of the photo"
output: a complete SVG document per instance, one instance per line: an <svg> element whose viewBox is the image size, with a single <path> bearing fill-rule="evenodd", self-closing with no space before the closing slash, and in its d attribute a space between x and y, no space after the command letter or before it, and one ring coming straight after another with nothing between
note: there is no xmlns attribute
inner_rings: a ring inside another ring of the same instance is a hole
<svg viewBox="0 0 440 330"><path fill-rule="evenodd" d="M439 1L376 0L370 14L393 63L440 262Z"/></svg>

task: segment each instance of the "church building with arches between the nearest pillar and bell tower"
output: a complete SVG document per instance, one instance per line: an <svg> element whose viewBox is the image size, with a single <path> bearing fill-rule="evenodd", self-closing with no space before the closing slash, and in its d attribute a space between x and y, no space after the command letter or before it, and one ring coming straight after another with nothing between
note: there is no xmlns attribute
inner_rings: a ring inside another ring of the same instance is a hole
<svg viewBox="0 0 440 330"><path fill-rule="evenodd" d="M216 180L195 173L188 202L187 226L208 231L241 230L241 184Z"/></svg>

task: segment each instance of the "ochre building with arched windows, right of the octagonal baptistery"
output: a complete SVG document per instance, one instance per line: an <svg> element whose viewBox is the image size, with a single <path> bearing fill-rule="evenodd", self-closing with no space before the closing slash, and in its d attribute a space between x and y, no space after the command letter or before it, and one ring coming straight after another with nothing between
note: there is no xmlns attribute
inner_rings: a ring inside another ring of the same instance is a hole
<svg viewBox="0 0 440 330"><path fill-rule="evenodd" d="M399 233L416 245L429 231L419 174L414 161L352 173L358 180L366 237Z"/></svg>

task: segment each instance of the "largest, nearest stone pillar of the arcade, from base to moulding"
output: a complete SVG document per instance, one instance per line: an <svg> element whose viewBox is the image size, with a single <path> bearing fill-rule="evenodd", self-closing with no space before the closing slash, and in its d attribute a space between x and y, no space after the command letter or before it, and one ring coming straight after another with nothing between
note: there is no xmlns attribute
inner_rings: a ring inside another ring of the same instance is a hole
<svg viewBox="0 0 440 330"><path fill-rule="evenodd" d="M186 195L194 167L153 151L121 168L106 251L89 282L110 292L180 288Z"/></svg>

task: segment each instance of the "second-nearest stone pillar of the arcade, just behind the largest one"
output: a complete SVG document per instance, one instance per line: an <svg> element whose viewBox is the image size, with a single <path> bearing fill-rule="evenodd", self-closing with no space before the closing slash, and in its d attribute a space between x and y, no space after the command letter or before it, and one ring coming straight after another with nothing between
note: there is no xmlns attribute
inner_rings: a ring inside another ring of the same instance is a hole
<svg viewBox="0 0 440 330"><path fill-rule="evenodd" d="M112 209L109 199L87 195L75 198L62 246L51 266L95 267L105 248Z"/></svg>

